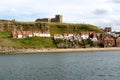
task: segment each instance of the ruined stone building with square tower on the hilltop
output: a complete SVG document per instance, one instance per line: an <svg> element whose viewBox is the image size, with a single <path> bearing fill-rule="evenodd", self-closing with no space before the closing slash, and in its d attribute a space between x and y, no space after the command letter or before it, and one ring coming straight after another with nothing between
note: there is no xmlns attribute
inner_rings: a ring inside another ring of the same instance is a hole
<svg viewBox="0 0 120 80"><path fill-rule="evenodd" d="M42 18L36 19L36 22L58 22L62 23L62 15L55 15L55 18Z"/></svg>

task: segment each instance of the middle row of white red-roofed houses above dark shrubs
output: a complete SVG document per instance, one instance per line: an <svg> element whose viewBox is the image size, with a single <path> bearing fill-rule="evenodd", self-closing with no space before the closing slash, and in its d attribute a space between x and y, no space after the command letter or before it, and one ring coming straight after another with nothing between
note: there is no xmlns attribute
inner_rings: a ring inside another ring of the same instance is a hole
<svg viewBox="0 0 120 80"><path fill-rule="evenodd" d="M63 39L63 40L79 40L90 38L93 41L97 41L98 34L95 32L81 32L78 34L64 33L64 34L54 34L54 39Z"/></svg>

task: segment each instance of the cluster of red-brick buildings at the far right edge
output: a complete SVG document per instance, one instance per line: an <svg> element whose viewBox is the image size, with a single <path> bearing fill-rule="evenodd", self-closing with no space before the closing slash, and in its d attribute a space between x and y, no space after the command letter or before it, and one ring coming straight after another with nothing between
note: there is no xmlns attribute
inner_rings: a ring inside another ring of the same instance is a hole
<svg viewBox="0 0 120 80"><path fill-rule="evenodd" d="M120 46L120 32L112 32L111 27L105 27L103 29L105 31L104 34L101 35L102 42L104 44L104 47L110 47L110 46Z"/></svg>

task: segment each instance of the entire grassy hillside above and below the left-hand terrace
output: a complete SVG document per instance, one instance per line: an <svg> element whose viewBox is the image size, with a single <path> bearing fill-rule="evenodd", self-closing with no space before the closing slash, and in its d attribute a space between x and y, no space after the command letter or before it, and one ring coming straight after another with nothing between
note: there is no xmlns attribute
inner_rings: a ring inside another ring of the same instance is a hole
<svg viewBox="0 0 120 80"><path fill-rule="evenodd" d="M13 48L55 48L52 38L11 38L11 31L16 30L47 30L51 35L57 33L79 33L83 31L102 32L97 26L90 24L68 24L68 23L38 23L38 22L16 22L0 20L0 47Z"/></svg>

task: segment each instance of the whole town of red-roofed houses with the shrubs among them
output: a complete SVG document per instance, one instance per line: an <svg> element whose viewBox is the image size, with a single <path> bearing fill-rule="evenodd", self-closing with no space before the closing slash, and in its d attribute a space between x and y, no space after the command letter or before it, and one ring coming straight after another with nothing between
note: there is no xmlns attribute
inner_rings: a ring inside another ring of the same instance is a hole
<svg viewBox="0 0 120 80"><path fill-rule="evenodd" d="M103 33L80 32L63 33L51 36L50 31L12 31L13 38L46 37L53 38L58 48L76 47L120 47L120 33L112 32L111 27L105 27Z"/></svg>

